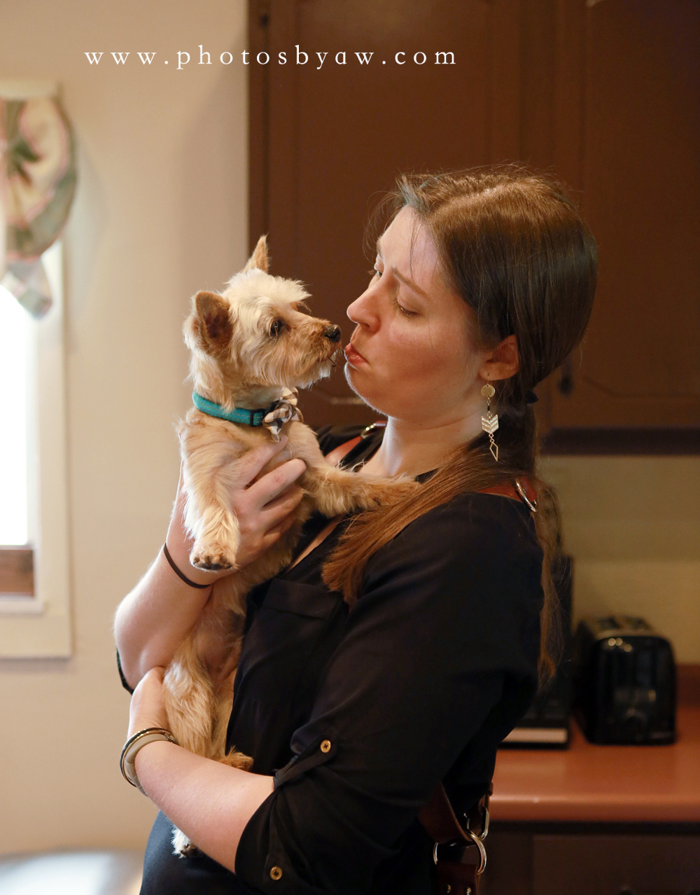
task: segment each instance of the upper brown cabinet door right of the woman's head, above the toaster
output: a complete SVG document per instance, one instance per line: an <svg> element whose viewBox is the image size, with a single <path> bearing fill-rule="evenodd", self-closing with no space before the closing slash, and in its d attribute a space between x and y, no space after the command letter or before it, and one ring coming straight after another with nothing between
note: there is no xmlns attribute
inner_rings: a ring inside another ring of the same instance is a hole
<svg viewBox="0 0 700 895"><path fill-rule="evenodd" d="M557 167L600 277L551 426L698 427L700 4L560 0L557 34Z"/></svg>

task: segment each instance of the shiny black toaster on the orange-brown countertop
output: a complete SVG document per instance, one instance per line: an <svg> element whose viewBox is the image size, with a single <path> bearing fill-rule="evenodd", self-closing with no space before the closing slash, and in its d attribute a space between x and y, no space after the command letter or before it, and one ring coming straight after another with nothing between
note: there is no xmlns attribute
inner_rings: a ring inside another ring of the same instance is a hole
<svg viewBox="0 0 700 895"><path fill-rule="evenodd" d="M661 746L676 739L676 666L665 637L644 618L579 622L575 712L592 743Z"/></svg>

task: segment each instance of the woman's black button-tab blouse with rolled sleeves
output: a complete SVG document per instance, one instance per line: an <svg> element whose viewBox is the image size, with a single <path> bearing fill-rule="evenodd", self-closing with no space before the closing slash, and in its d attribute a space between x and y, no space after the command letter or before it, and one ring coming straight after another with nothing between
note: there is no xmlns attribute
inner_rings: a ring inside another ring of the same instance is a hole
<svg viewBox="0 0 700 895"><path fill-rule="evenodd" d="M324 452L352 434L326 430ZM372 434L353 465L380 443ZM314 516L298 550L327 524ZM274 775L235 875L179 858L158 815L142 895L431 891L417 820L443 780L457 814L488 787L532 701L542 550L524 504L465 494L408 524L369 562L351 611L322 584L343 525L251 592L229 745Z"/></svg>

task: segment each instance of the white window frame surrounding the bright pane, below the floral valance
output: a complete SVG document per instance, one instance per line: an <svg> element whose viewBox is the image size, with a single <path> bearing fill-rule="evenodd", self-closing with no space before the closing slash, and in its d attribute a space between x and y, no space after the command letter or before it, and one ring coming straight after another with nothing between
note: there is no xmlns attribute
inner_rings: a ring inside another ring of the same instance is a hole
<svg viewBox="0 0 700 895"><path fill-rule="evenodd" d="M34 595L0 595L0 658L72 655L66 450L63 247L44 254L54 303L34 327L28 378Z"/></svg>

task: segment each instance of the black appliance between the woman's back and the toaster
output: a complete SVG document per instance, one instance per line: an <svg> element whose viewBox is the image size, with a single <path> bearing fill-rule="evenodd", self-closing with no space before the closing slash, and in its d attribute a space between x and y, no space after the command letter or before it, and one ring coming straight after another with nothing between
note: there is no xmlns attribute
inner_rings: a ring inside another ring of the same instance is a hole
<svg viewBox="0 0 700 895"><path fill-rule="evenodd" d="M573 559L560 553L552 560L551 576L559 597L564 637L557 673L534 697L525 717L511 730L501 748L566 749L571 711L571 592Z"/></svg>

